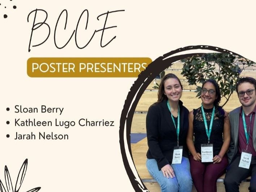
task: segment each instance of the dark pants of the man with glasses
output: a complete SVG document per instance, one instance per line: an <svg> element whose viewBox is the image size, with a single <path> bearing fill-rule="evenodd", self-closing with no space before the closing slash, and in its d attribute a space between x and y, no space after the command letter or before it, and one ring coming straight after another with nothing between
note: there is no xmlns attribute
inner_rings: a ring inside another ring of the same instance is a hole
<svg viewBox="0 0 256 192"><path fill-rule="evenodd" d="M256 192L256 157L252 157L249 169L238 167L240 158L240 155L236 155L234 161L227 167L227 173L224 179L226 192L239 192L240 183L248 176L251 176L248 189L250 192Z"/></svg>

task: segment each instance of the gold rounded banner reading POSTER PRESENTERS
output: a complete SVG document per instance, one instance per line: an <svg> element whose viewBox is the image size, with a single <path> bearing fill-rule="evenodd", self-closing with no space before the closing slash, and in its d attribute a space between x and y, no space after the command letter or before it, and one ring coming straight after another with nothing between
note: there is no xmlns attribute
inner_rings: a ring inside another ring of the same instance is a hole
<svg viewBox="0 0 256 192"><path fill-rule="evenodd" d="M138 77L149 57L31 57L29 77Z"/></svg>

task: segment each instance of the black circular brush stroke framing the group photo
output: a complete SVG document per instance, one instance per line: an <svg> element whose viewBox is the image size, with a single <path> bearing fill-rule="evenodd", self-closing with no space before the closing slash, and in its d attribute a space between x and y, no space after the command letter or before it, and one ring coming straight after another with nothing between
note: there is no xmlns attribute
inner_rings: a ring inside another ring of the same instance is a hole
<svg viewBox="0 0 256 192"><path fill-rule="evenodd" d="M133 118L133 115L135 112L135 108L137 106L138 101L141 98L141 95L144 93L145 89L148 87L150 82L152 82L154 80L154 78L159 73L161 73L163 70L168 68L171 65L171 63L181 60L181 59L184 59L184 58L187 58L187 57L191 57L196 54L201 55L201 54L205 54L205 53L192 53L192 54L184 54L184 55L177 55L177 56L170 57L171 55L177 54L182 51L196 50L196 49L212 50L212 51L218 51L220 53L229 53L229 54L234 54L234 55L240 56L239 54L236 54L236 53L231 52L226 49L222 49L219 47L213 47L213 46L205 46L205 45L187 46L187 47L178 48L176 50L170 51L170 52L164 54L163 56L158 57L156 60L154 60L152 63L150 63L148 65L148 67L146 67L145 71L142 71L138 75L137 80L132 85L132 87L127 95L127 98L124 102L124 107L123 107L123 110L121 113L121 118L120 118L120 129L119 129L119 139L120 140L119 140L119 142L120 142L120 149L121 149L121 154L122 154L125 170L127 172L127 175L129 176L131 184L136 192L142 191L142 189L146 190L146 187L142 183L142 181L141 181L142 186L140 183L137 182L136 177L133 174L131 167L129 166L129 162L128 162L126 152L125 152L125 145L124 145L125 122L126 122L127 144L128 144L129 153L132 158L131 139L130 139L131 125L132 125L132 118ZM137 93L137 95L136 95L136 93ZM136 95L136 98L134 99L135 95ZM134 101L133 101L133 99L134 99ZM132 103L132 101L133 101L133 103ZM132 160L133 160L133 158L132 158ZM133 164L134 164L134 161L133 161Z"/></svg>

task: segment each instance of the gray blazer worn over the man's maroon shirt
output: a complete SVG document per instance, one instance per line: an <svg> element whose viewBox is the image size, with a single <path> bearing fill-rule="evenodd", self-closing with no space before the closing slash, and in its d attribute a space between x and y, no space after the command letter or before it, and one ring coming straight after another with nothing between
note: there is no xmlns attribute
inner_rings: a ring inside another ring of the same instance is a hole
<svg viewBox="0 0 256 192"><path fill-rule="evenodd" d="M229 158L229 163L233 160L237 153L238 147L238 125L239 125L239 113L241 107L238 107L229 113L229 120L230 120L230 146L227 151L227 157ZM256 115L254 119L253 125L253 133L252 133L252 141L253 141L253 148L256 150Z"/></svg>

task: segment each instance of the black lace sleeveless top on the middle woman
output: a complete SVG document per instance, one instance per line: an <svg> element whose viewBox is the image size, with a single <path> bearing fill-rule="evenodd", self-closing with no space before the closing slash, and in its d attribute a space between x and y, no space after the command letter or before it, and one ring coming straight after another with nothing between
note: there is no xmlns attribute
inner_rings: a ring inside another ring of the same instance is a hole
<svg viewBox="0 0 256 192"><path fill-rule="evenodd" d="M208 131L210 127L210 120L212 117L211 109L205 109L205 117L207 121ZM214 155L218 155L222 144L223 144L223 126L224 126L224 110L221 107L215 109L215 115L213 120L212 132L210 135L210 144L213 144L213 157ZM196 152L201 154L201 144L208 143L208 137L206 135L205 125L204 125L204 118L202 116L201 107L193 110L193 129L194 129L194 136L195 136L195 148Z"/></svg>

